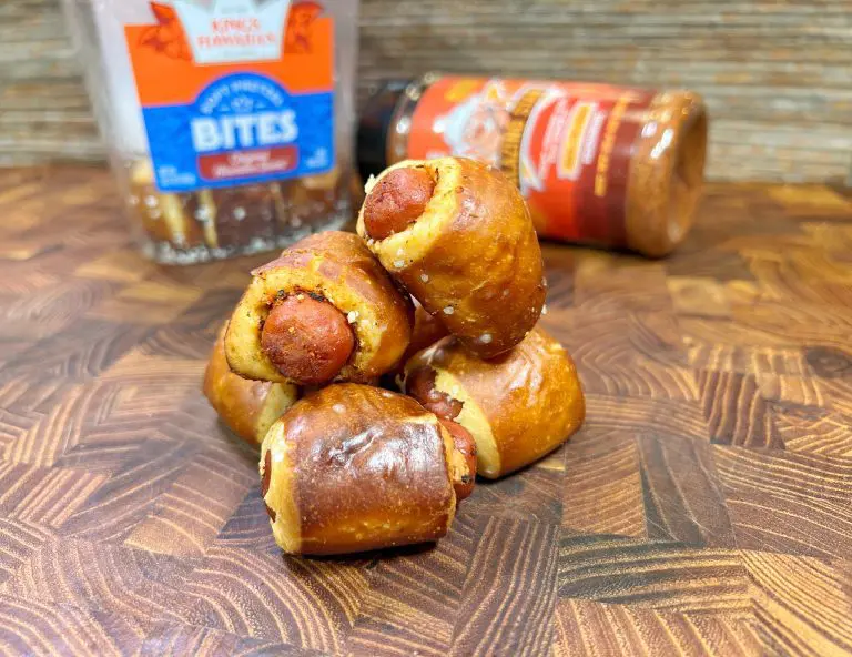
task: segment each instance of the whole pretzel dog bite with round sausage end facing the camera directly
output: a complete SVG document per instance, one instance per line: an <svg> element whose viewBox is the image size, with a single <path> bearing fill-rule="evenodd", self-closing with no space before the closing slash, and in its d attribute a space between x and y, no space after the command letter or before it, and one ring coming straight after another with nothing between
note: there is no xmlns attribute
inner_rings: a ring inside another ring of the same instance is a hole
<svg viewBox="0 0 852 657"><path fill-rule="evenodd" d="M408 346L412 302L357 235L311 235L252 276L225 335L227 362L241 376L367 383Z"/></svg>

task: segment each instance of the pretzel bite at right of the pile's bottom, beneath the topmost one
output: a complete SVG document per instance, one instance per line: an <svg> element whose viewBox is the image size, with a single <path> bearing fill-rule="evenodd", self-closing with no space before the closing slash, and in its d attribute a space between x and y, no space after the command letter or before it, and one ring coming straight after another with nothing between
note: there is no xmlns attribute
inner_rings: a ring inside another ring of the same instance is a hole
<svg viewBox="0 0 852 657"><path fill-rule="evenodd" d="M487 478L540 458L567 441L586 415L574 362L538 327L490 361L445 337L408 361L404 383L428 410L470 432L478 474Z"/></svg>

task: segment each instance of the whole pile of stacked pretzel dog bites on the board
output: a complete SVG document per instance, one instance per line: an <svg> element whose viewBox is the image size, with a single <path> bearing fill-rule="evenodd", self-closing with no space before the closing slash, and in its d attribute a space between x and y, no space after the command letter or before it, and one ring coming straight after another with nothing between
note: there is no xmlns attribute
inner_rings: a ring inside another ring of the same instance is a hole
<svg viewBox="0 0 852 657"><path fill-rule="evenodd" d="M536 325L541 251L516 186L444 158L366 192L357 234L311 235L252 272L204 378L261 445L288 554L437 540L477 474L532 463L585 416L574 363Z"/></svg>

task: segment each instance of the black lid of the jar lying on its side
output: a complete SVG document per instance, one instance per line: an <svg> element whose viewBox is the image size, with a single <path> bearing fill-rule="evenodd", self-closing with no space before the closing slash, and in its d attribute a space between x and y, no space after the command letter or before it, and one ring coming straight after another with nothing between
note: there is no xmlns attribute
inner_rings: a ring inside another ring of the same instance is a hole
<svg viewBox="0 0 852 657"><path fill-rule="evenodd" d="M361 111L356 150L362 180L366 181L387 168L387 135L397 103L410 82L383 80Z"/></svg>

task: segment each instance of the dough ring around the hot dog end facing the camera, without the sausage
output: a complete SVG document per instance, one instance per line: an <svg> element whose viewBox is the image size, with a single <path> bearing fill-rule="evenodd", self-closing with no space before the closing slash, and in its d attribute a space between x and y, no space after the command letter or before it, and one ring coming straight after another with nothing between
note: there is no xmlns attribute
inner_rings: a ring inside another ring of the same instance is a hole
<svg viewBox="0 0 852 657"><path fill-rule="evenodd" d="M335 381L373 381L390 370L408 346L414 314L410 299L397 289L355 234L328 231L305 237L277 260L254 270L252 276L231 315L225 336L227 362L241 376L293 381L282 373L263 345L270 311L291 296L305 295L331 304L346 317L354 334L354 348L332 377ZM296 331L297 326L292 328ZM282 346L280 341L274 344Z"/></svg>

